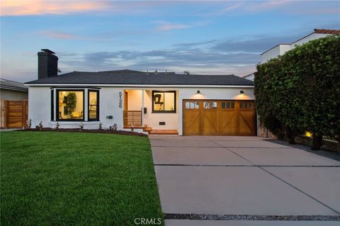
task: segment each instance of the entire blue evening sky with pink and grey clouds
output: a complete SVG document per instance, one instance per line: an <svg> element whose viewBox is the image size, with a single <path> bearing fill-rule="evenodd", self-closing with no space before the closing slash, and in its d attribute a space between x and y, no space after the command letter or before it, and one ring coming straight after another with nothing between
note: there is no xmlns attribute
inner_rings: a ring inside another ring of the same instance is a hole
<svg viewBox="0 0 340 226"><path fill-rule="evenodd" d="M1 0L1 78L38 79L40 49L62 74L135 69L256 71L262 52L340 29L340 1Z"/></svg>

